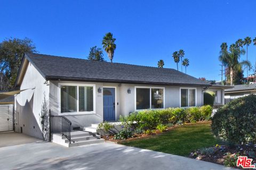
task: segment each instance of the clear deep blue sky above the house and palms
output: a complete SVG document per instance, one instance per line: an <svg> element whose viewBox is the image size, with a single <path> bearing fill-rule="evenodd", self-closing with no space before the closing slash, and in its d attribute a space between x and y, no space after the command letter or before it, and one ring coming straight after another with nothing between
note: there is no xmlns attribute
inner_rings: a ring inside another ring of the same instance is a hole
<svg viewBox="0 0 256 170"><path fill-rule="evenodd" d="M256 37L255 8L254 0L1 0L0 41L28 37L39 53L87 58L90 47L102 47L103 35L112 32L113 62L157 66L162 59L175 69L172 53L183 49L188 74L220 80L220 45ZM255 63L256 46L249 46L248 55Z"/></svg>

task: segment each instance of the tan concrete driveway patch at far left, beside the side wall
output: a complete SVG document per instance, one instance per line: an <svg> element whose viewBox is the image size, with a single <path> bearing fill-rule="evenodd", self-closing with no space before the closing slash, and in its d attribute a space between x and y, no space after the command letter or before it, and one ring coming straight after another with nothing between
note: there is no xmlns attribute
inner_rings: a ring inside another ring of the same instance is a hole
<svg viewBox="0 0 256 170"><path fill-rule="evenodd" d="M17 132L0 132L0 148L14 145L22 145L42 141L41 139L30 137L29 135Z"/></svg>

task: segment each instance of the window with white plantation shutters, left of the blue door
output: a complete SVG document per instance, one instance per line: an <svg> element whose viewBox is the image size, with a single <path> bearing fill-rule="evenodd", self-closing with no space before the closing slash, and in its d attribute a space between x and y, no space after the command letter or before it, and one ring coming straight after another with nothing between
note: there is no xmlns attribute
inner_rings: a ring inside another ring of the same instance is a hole
<svg viewBox="0 0 256 170"><path fill-rule="evenodd" d="M60 86L60 113L93 112L93 86Z"/></svg>

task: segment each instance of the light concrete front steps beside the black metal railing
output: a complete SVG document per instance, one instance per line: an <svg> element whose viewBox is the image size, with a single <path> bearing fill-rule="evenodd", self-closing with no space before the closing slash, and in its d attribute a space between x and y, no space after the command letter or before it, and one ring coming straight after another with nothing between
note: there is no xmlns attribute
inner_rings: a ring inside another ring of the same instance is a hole
<svg viewBox="0 0 256 170"><path fill-rule="evenodd" d="M104 142L104 139L100 139L100 136L97 133L85 132L85 131L73 131L70 132L71 143L69 140L62 136L61 134L54 133L52 135L52 142L65 147L75 147L82 145L89 145L93 143Z"/></svg>

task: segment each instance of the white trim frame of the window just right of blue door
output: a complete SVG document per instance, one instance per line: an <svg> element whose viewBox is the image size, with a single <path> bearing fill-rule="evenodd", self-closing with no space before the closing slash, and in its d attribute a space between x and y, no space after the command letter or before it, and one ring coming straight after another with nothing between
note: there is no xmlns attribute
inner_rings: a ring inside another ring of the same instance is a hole
<svg viewBox="0 0 256 170"><path fill-rule="evenodd" d="M134 86L134 110L135 111L145 111L145 110L147 110L147 109L137 109L137 106L136 106L136 98L137 98L137 88L138 89L150 89L149 90L149 106L150 106L150 108L148 108L148 109L152 109L152 110L154 110L154 109L164 109L165 108L165 87L154 87L154 86ZM151 103L152 103L152 101L151 101L151 89L163 89L163 91L164 91L164 105L163 105L163 108L151 108Z"/></svg>

